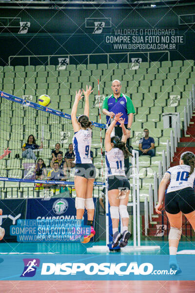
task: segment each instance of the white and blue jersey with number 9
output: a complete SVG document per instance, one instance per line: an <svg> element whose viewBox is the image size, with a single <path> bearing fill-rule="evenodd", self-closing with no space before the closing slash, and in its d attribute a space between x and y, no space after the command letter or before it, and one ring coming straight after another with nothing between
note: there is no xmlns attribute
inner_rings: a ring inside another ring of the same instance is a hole
<svg viewBox="0 0 195 293"><path fill-rule="evenodd" d="M80 129L73 136L73 147L76 164L92 164L90 150L92 141L92 130L90 128Z"/></svg>

